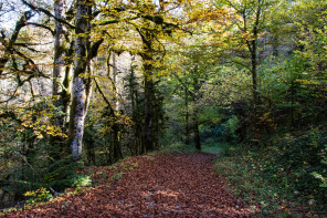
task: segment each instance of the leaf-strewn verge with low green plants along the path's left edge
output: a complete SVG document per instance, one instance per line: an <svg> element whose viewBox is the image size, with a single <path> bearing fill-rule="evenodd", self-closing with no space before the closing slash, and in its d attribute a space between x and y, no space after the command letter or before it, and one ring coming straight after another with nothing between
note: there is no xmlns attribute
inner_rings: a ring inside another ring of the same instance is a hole
<svg viewBox="0 0 327 218"><path fill-rule="evenodd" d="M45 205L56 197L77 195L87 191L89 188L99 184L118 181L124 176L124 172L134 170L138 167L138 163L133 162L129 157L124 158L112 166L105 167L85 167L83 164L62 166L62 168L57 168L55 172L51 173L49 176L52 178L49 180L51 183L40 183L38 187L33 186L34 188L31 188L31 190L23 194L25 203L22 208L11 207L0 210L0 216L14 210L29 209L34 206ZM65 173L65 175L63 175L63 173ZM20 184L31 185L27 181ZM59 185L61 185L61 187L65 189L54 196L50 191L50 185L53 185L52 187L59 187Z"/></svg>

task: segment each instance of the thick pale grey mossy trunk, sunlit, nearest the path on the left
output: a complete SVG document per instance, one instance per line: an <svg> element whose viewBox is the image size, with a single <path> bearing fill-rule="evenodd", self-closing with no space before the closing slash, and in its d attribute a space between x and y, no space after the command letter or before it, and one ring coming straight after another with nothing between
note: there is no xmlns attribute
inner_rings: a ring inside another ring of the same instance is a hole
<svg viewBox="0 0 327 218"><path fill-rule="evenodd" d="M72 105L70 113L70 127L67 143L71 147L73 160L78 160L82 154L82 139L84 134L84 120L87 108L87 97L89 91L89 80L84 79L87 70L87 45L89 38L89 12L92 2L89 0L77 0L76 2L76 38L75 38L75 60L72 87Z"/></svg>

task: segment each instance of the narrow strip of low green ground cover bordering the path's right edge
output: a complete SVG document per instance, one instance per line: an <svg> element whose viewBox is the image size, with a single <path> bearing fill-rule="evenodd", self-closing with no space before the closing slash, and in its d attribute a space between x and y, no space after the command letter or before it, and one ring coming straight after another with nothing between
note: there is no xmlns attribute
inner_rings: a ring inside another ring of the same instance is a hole
<svg viewBox="0 0 327 218"><path fill-rule="evenodd" d="M254 169L256 165L249 164L246 155L218 157L214 166L219 175L228 178L229 187L234 195L253 205L260 203L262 215L272 216L283 210L284 205L295 206L288 205L288 201L283 199L285 197L283 188L278 188L277 184L272 185L260 176L260 173ZM288 195L287 193L286 196Z"/></svg>

